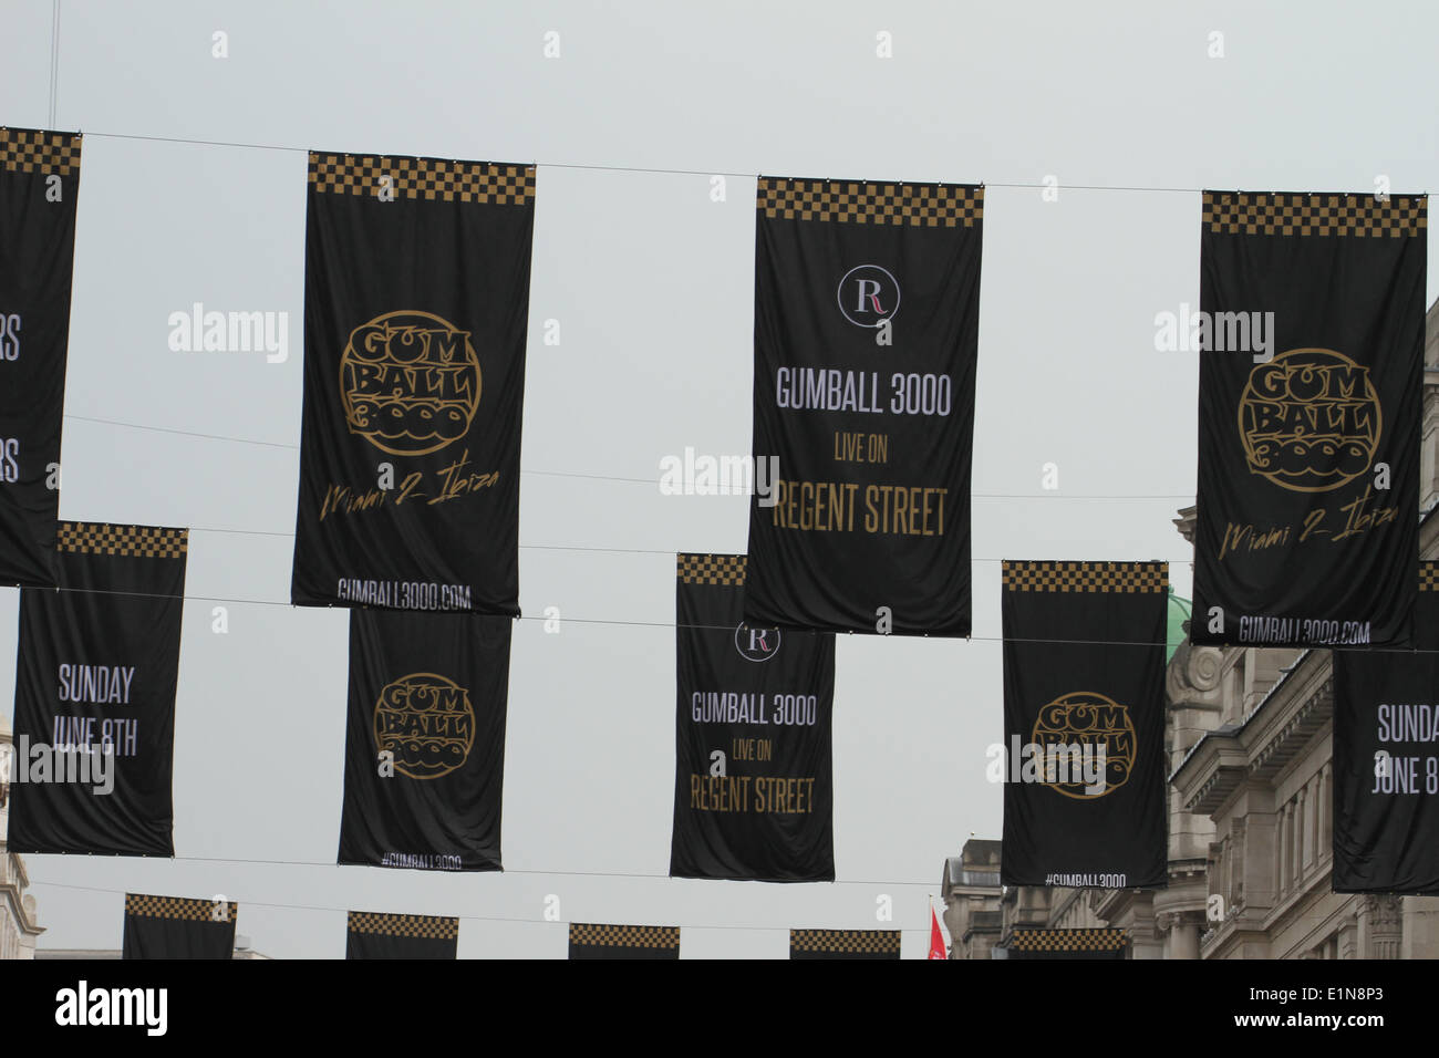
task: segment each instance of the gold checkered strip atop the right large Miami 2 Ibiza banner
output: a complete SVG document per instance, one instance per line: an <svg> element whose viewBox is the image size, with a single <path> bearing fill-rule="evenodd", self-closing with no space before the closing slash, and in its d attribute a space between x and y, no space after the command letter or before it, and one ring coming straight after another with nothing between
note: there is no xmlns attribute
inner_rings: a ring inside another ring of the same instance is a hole
<svg viewBox="0 0 1439 1058"><path fill-rule="evenodd" d="M1416 236L1429 226L1427 196L1242 194L1204 191L1204 223L1219 235Z"/></svg>

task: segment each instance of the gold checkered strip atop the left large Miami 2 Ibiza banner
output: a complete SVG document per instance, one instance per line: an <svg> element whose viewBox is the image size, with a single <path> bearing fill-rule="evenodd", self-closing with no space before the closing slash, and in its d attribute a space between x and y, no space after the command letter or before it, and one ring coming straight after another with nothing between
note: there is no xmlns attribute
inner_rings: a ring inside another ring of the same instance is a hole
<svg viewBox="0 0 1439 1058"><path fill-rule="evenodd" d="M309 183L317 191L374 197L383 176L391 178L397 200L489 206L532 206L535 200L534 166L309 153Z"/></svg>

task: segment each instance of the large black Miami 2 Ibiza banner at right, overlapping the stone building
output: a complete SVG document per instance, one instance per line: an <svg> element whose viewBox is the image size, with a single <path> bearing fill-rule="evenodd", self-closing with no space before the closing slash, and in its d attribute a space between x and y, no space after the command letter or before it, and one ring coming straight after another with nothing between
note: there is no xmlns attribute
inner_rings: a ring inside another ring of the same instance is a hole
<svg viewBox="0 0 1439 1058"><path fill-rule="evenodd" d="M1404 642L1427 200L1204 193L1196 643ZM1186 335L1180 335L1186 337Z"/></svg>

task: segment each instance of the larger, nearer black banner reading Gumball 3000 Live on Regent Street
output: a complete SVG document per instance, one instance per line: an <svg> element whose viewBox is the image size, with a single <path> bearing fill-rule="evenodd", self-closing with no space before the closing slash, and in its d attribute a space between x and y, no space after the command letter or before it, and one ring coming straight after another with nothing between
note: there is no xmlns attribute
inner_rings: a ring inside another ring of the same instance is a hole
<svg viewBox="0 0 1439 1058"><path fill-rule="evenodd" d="M984 189L760 178L744 616L967 636Z"/></svg>

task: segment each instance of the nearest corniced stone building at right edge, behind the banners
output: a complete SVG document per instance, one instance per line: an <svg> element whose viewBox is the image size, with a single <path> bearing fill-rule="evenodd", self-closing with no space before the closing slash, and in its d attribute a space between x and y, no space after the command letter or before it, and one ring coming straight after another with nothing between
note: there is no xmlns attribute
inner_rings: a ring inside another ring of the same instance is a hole
<svg viewBox="0 0 1439 1058"><path fill-rule="evenodd" d="M1439 557L1433 510L1420 527L1426 559ZM1193 510L1180 530L1193 531ZM1190 648L1170 668L1176 691L1171 714L1203 710L1213 721L1176 743L1170 776L1171 819L1213 828L1200 957L1439 957L1439 898L1331 891L1330 652Z"/></svg>

